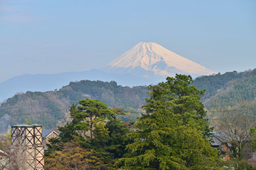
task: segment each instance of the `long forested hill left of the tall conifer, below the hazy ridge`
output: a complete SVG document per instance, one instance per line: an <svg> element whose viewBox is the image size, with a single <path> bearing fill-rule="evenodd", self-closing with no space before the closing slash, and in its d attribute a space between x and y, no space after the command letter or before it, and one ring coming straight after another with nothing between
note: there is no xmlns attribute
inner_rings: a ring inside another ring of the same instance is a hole
<svg viewBox="0 0 256 170"><path fill-rule="evenodd" d="M45 128L55 127L68 113L67 108L80 99L100 99L110 107L137 109L145 103L144 98L147 96L146 86L129 88L117 86L113 81L90 80L71 82L68 86L55 91L16 94L0 107L0 133L5 132L9 124L25 123L26 120L42 124Z"/></svg>

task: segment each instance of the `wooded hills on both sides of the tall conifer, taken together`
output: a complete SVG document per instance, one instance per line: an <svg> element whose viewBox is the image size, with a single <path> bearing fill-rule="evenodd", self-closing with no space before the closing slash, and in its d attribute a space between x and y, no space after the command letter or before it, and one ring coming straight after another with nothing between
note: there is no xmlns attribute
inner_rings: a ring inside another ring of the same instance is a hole
<svg viewBox="0 0 256 170"><path fill-rule="evenodd" d="M254 115L256 106L256 69L245 72L226 72L196 78L193 85L205 89L201 99L208 110L209 118L216 118L223 110L242 109ZM26 92L7 99L0 107L0 122L3 115L9 115L9 123L24 123L26 119L45 128L56 127L69 113L68 107L80 99L100 99L109 107L124 108L129 112L125 121L135 120L140 115L139 107L148 98L146 86L118 86L117 82L81 80L71 82L60 90L49 92ZM2 124L4 125L4 123ZM8 126L5 127L7 130ZM5 132L1 127L0 133Z"/></svg>

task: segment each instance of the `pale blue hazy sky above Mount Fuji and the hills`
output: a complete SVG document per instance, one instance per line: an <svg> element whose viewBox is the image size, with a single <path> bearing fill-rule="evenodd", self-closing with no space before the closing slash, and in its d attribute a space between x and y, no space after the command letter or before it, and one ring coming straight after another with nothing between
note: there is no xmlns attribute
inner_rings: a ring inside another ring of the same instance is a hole
<svg viewBox="0 0 256 170"><path fill-rule="evenodd" d="M100 69L156 42L218 72L256 68L256 1L0 0L0 82Z"/></svg>

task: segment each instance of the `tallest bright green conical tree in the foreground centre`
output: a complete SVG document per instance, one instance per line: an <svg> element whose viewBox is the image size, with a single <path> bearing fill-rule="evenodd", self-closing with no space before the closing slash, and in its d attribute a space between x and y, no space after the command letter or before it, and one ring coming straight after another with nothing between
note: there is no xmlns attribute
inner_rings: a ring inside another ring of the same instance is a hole
<svg viewBox="0 0 256 170"><path fill-rule="evenodd" d="M191 76L176 74L149 86L146 113L128 138L129 154L115 165L120 169L211 169L218 159L210 146L203 90L189 86Z"/></svg>

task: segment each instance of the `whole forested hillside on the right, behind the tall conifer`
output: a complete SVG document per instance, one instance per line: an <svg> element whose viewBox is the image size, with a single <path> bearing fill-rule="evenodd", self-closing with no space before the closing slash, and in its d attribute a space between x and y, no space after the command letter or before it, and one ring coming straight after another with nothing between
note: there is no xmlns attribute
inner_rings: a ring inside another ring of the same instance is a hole
<svg viewBox="0 0 256 170"><path fill-rule="evenodd" d="M256 116L256 69L202 76L193 84L199 89L206 89L202 100L209 118L219 118L223 111Z"/></svg>

